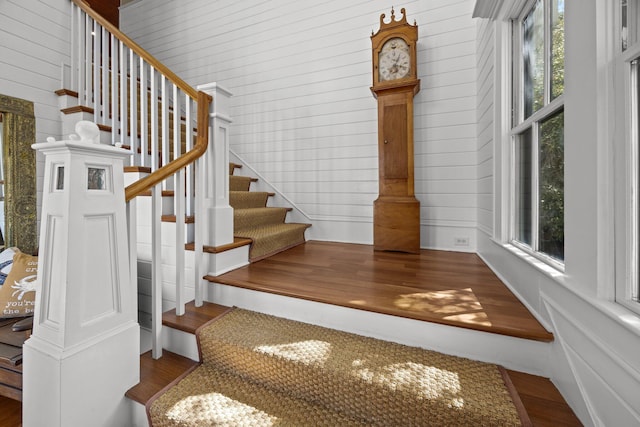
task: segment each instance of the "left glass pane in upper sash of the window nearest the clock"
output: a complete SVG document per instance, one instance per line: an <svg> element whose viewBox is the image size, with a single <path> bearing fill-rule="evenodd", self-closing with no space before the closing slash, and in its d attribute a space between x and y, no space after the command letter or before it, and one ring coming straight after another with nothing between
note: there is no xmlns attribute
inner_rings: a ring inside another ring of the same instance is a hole
<svg viewBox="0 0 640 427"><path fill-rule="evenodd" d="M544 105L544 5L538 0L522 22L524 117Z"/></svg>

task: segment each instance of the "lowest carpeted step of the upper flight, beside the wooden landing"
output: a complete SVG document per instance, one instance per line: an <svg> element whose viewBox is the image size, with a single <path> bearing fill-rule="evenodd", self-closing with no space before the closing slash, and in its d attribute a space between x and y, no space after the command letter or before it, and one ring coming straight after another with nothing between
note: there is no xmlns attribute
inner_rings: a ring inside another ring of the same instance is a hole
<svg viewBox="0 0 640 427"><path fill-rule="evenodd" d="M233 234L252 240L249 258L255 262L304 243L304 232L309 227L299 223L271 224L236 230Z"/></svg>

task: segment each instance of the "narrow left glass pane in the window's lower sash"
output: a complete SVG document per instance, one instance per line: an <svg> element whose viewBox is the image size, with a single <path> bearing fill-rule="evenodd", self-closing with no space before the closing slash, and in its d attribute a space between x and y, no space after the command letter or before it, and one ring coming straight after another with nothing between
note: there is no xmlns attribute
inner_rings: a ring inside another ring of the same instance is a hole
<svg viewBox="0 0 640 427"><path fill-rule="evenodd" d="M515 239L531 246L531 129L516 137L515 146Z"/></svg>

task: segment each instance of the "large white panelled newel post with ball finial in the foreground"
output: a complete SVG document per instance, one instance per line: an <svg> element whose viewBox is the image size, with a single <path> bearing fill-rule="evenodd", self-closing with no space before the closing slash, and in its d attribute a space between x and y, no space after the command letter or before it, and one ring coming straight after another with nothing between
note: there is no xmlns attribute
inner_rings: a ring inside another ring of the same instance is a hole
<svg viewBox="0 0 640 427"><path fill-rule="evenodd" d="M33 334L24 345L23 425L130 423L140 329L129 275L120 148L80 137L35 144L45 156Z"/></svg>

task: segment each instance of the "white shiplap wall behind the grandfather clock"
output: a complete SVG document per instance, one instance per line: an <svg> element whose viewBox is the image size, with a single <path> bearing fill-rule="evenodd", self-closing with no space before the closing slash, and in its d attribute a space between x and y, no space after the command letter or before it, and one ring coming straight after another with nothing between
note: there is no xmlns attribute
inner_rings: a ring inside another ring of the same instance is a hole
<svg viewBox="0 0 640 427"><path fill-rule="evenodd" d="M473 250L478 220L473 0L395 4L419 26L415 188L422 246ZM231 148L320 240L372 242L378 194L372 31L380 0L141 0L121 29L192 85L233 93ZM468 246L455 246L464 237Z"/></svg>

